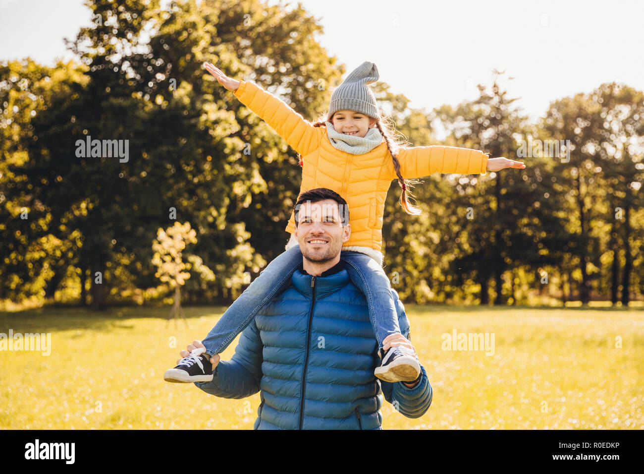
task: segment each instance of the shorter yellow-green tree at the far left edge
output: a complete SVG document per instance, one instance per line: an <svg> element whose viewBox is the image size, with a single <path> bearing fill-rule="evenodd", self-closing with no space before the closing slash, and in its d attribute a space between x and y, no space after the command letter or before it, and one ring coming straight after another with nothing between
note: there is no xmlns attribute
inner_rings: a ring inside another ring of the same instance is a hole
<svg viewBox="0 0 644 474"><path fill-rule="evenodd" d="M54 167L41 172L45 164L31 153L46 148L35 124L57 114L61 101L77 97L82 77L82 67L72 63L53 68L29 58L0 63L0 274L8 283L0 285L0 297L17 302L52 298L73 272L82 236L68 223L83 209L62 200L50 206L40 190L60 190L61 176Z"/></svg>

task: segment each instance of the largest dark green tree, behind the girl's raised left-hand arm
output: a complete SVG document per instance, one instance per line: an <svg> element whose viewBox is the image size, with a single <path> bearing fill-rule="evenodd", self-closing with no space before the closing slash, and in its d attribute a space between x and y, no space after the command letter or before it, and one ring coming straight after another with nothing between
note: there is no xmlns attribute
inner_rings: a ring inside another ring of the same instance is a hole
<svg viewBox="0 0 644 474"><path fill-rule="evenodd" d="M267 87L275 79L300 84L310 74L328 78L321 71L332 59L312 38L319 26L299 8L287 14L256 1L171 3L168 10L155 2L87 5L94 23L71 43L85 66L82 79L70 85L73 92L52 88L50 112L31 121L39 141L26 145L28 159L17 163L14 172L24 180L15 183L13 195L37 196L44 215L66 221L68 232L79 230L83 244L65 264L77 266L82 277L104 273L102 284L92 286L95 306L108 294L118 299L119 290L133 284L153 284L149 242L158 226L169 223L171 208L175 218L194 222L208 236L199 239L196 253L219 278L201 294L236 295L247 282L247 268L259 272L266 263L249 242L245 220L263 252L279 250L276 241L267 246L263 235L285 225L280 217L290 210L276 199L294 199L300 170L281 139L214 82L202 63L207 59L229 73L252 72ZM155 34L144 44L141 37L149 30ZM265 41L269 32L273 43ZM281 77L269 79L263 70ZM339 82L340 75L331 77ZM317 110L324 89L325 84L303 82L284 97L306 114ZM87 136L128 140L129 160L79 159L75 143ZM269 202L244 214L253 195Z"/></svg>

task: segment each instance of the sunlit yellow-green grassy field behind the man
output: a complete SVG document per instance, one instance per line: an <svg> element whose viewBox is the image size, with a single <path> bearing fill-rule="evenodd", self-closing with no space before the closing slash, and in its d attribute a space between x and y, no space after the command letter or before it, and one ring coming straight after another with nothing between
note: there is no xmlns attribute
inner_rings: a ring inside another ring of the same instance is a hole
<svg viewBox="0 0 644 474"><path fill-rule="evenodd" d="M162 379L178 351L205 337L223 309L185 308L189 329L167 324L166 308L0 313L0 333L52 334L49 356L0 351L0 428L252 429L258 394L220 399ZM642 310L406 310L433 402L420 419L385 402L384 429L644 426ZM494 335L494 355L443 350L442 335L453 331Z"/></svg>

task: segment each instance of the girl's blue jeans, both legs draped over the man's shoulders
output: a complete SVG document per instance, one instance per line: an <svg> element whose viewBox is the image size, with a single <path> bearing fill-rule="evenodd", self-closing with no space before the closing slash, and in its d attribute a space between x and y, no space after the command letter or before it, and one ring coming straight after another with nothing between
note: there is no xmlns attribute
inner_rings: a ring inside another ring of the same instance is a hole
<svg viewBox="0 0 644 474"><path fill-rule="evenodd" d="M343 250L340 258L351 281L365 293L371 324L378 342L390 334L399 334L398 313L392 286L383 268L364 253ZM202 341L211 357L222 353L242 332L257 312L275 295L288 288L293 272L302 263L299 246L290 248L270 262L248 288L232 303Z"/></svg>

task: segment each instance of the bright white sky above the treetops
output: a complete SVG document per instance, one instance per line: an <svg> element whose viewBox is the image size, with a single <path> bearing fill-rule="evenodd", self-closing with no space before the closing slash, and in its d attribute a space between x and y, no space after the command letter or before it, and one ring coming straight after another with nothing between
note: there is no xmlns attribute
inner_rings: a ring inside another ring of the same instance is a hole
<svg viewBox="0 0 644 474"><path fill-rule="evenodd" d="M475 99L495 68L535 120L551 101L604 82L644 90L642 1L300 1L347 72L373 61L415 108ZM0 0L0 60L71 57L62 38L89 22L82 0Z"/></svg>

